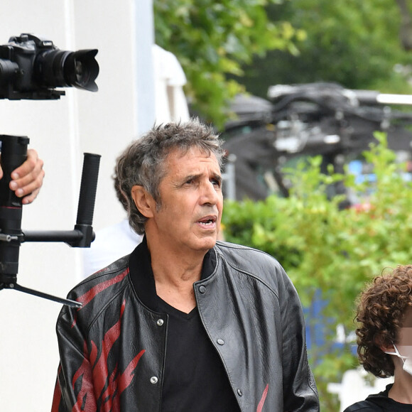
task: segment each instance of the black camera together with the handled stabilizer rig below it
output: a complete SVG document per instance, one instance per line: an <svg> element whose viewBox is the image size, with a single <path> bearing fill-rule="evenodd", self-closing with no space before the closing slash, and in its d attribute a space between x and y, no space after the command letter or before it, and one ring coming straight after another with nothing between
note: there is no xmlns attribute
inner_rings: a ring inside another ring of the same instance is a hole
<svg viewBox="0 0 412 412"><path fill-rule="evenodd" d="M63 90L77 87L97 92L94 80L99 65L97 49L75 52L60 50L48 38L31 33L12 36L0 45L0 99L60 99ZM40 298L79 308L81 303L33 291L17 283L18 252L23 242L66 242L73 247L90 247L94 240L92 219L100 156L85 153L75 228L68 231L22 232L21 199L10 190L11 172L27 157L28 137L0 135L4 177L0 180L0 290L14 289Z"/></svg>

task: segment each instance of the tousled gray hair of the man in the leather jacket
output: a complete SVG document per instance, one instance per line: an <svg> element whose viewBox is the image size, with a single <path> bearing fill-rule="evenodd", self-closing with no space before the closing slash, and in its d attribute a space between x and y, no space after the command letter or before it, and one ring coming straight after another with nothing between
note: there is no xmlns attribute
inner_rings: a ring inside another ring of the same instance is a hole
<svg viewBox="0 0 412 412"><path fill-rule="evenodd" d="M114 187L121 196L121 202L129 215L129 224L138 234L144 233L147 217L137 209L131 188L141 185L153 196L158 207L161 196L158 190L161 180L166 175L165 160L168 154L178 149L186 153L190 148L200 148L208 155L214 154L222 168L224 150L222 141L210 126L193 118L184 123L168 123L154 126L133 141L117 158L114 169Z"/></svg>

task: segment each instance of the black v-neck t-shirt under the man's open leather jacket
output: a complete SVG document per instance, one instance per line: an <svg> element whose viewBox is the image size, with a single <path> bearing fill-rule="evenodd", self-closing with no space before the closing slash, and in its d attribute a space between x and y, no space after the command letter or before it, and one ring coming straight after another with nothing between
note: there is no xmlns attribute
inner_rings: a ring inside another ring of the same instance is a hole
<svg viewBox="0 0 412 412"><path fill-rule="evenodd" d="M239 412L229 379L199 311L183 313L159 298L168 314L162 412Z"/></svg>

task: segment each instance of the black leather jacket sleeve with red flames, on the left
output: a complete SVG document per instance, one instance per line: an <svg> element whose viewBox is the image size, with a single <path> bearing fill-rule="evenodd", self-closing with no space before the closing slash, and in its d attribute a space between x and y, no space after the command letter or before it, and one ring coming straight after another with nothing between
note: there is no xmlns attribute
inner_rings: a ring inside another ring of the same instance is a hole
<svg viewBox="0 0 412 412"><path fill-rule="evenodd" d="M94 397L92 367L76 310L63 307L56 332L60 365L55 384L52 412L97 411Z"/></svg>

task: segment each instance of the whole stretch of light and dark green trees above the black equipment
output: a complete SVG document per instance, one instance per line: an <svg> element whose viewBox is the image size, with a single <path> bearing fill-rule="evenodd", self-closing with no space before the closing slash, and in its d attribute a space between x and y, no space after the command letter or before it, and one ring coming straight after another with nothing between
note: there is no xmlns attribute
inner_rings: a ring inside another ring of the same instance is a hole
<svg viewBox="0 0 412 412"><path fill-rule="evenodd" d="M222 129L235 94L337 82L408 93L411 54L394 0L153 0L156 43L174 53L194 112Z"/></svg>

